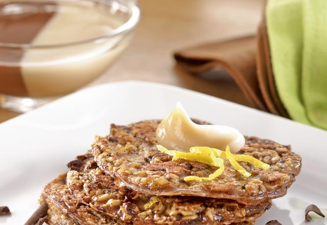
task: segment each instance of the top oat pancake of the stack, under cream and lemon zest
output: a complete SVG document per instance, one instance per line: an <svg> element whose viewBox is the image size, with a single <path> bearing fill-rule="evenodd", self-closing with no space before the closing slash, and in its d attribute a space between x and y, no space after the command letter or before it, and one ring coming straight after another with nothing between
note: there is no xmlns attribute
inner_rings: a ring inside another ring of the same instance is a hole
<svg viewBox="0 0 327 225"><path fill-rule="evenodd" d="M184 181L185 176L205 177L217 169L200 162L178 159L156 148L155 131L160 121L142 121L128 126L111 125L107 137L97 137L92 154L98 166L137 192L158 196L201 196L236 200L257 205L281 197L295 181L301 158L290 146L254 137L238 154L248 154L270 164L269 170L240 162L252 175L241 175L227 160L225 170L211 181Z"/></svg>

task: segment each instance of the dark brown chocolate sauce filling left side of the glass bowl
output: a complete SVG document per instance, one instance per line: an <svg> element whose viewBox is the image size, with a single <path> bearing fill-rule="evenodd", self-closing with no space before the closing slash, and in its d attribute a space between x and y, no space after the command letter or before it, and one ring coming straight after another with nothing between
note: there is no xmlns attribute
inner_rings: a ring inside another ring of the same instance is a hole
<svg viewBox="0 0 327 225"><path fill-rule="evenodd" d="M31 43L53 15L38 3L0 4L0 42ZM0 93L28 96L19 64L23 55L20 48L0 47Z"/></svg>

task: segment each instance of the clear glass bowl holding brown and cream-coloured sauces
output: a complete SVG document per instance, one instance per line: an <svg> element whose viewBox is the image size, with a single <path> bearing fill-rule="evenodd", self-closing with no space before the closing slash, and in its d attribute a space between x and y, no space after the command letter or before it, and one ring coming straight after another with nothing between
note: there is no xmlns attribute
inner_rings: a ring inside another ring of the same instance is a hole
<svg viewBox="0 0 327 225"><path fill-rule="evenodd" d="M132 0L0 3L0 106L25 112L103 74L139 20Z"/></svg>

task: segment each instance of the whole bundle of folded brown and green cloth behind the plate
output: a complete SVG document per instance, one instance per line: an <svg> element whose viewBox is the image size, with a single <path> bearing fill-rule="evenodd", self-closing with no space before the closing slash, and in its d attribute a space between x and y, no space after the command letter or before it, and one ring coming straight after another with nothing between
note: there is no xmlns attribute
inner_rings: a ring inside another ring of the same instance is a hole
<svg viewBox="0 0 327 225"><path fill-rule="evenodd" d="M327 1L268 0L256 38L175 53L185 70L228 72L249 105L327 129Z"/></svg>

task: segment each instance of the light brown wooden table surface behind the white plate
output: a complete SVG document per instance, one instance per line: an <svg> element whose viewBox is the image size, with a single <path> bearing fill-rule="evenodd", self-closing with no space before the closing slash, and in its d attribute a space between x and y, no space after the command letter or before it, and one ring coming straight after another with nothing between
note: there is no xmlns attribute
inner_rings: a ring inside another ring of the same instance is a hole
<svg viewBox="0 0 327 225"><path fill-rule="evenodd" d="M175 65L175 50L205 42L254 34L261 0L139 0L142 18L123 55L90 85L121 80L153 81L193 89L246 105L227 75L185 73ZM0 109L0 122L19 114Z"/></svg>

